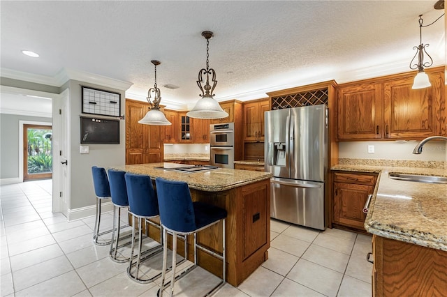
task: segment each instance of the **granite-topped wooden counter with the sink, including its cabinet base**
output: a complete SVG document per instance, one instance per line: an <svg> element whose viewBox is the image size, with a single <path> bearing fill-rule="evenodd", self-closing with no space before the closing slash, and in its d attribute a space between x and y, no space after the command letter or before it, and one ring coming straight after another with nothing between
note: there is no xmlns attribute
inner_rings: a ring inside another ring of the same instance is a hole
<svg viewBox="0 0 447 297"><path fill-rule="evenodd" d="M331 169L379 173L365 220L365 229L373 234L373 296L447 296L447 185L389 176L447 177L447 170L355 165Z"/></svg>

